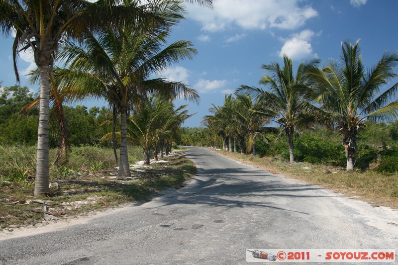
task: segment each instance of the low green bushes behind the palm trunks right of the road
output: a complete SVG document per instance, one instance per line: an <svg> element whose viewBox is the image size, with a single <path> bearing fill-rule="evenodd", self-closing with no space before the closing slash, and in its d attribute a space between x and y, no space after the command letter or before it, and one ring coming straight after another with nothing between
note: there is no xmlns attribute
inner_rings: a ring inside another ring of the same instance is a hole
<svg viewBox="0 0 398 265"><path fill-rule="evenodd" d="M268 141L259 139L255 149L260 157L275 157L289 161L289 145L286 136L281 135L279 127L263 127L264 137ZM223 149L222 136L210 132L206 127L182 127L178 136L178 144L184 146L206 146ZM302 130L295 133L295 160L311 164L327 164L336 167L346 166L344 146L341 136L335 130L321 127ZM355 167L363 170L378 172L398 172L398 121L367 122L366 129L359 135L358 153L354 161ZM242 154L253 154L248 151L248 142L236 145L236 150L226 148L226 151Z"/></svg>

